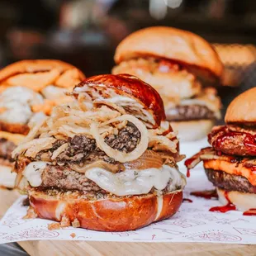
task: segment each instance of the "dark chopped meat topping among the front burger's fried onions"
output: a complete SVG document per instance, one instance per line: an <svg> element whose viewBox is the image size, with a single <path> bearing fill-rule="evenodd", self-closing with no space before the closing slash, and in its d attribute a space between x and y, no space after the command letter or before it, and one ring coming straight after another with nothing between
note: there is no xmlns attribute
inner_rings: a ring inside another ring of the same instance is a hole
<svg viewBox="0 0 256 256"><path fill-rule="evenodd" d="M97 159L102 159L110 164L115 164L115 159L112 159L99 149L96 140L87 135L75 135L69 141L58 140L50 150L43 150L37 154L36 159L42 161L51 161L51 155L59 148L59 146L68 142L67 149L59 154L56 161L58 164L73 163L80 164L84 161L94 162ZM122 152L129 153L135 149L140 142L140 130L135 126L126 126L122 128L117 135L108 135L105 137L105 142L112 149L118 149Z"/></svg>

